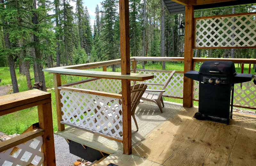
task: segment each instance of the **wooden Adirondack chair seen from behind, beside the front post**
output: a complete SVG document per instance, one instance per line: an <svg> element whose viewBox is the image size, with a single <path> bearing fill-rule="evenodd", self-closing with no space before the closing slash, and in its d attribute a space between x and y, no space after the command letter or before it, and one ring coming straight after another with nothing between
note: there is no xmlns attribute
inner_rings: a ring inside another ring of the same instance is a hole
<svg viewBox="0 0 256 166"><path fill-rule="evenodd" d="M138 124L137 124L137 121L136 121L136 119L135 119L135 115L134 115L134 114L135 114L135 110L136 110L138 104L140 103L140 99L141 99L143 93L145 92L145 90L147 89L147 87L148 87L148 86L147 86L146 84L135 84L135 85L131 86L131 112L132 112L131 114L132 114L132 118L133 118L133 120L134 120L134 122L135 122L137 131L139 130L139 127L138 127ZM122 91L119 92L119 94L122 94ZM103 103L100 102L99 104L100 104L101 106L103 106ZM122 104L122 101L121 101L121 100L119 100L119 104ZM117 106L117 104L116 104L115 107L116 107L116 110L119 110L120 115L122 115L122 108L119 108L119 107ZM108 108L108 107L105 107L104 109L107 110L107 109L109 109L109 108ZM112 109L111 111L112 111L112 112L115 112L116 110L115 110L115 109ZM104 115L104 112L101 111L101 114ZM111 117L112 114L111 114L111 113L108 113L108 116ZM116 118L118 119L118 118L120 118L120 117L117 117L117 116L116 116ZM116 123L115 118L113 118L112 121L113 121L113 123Z"/></svg>

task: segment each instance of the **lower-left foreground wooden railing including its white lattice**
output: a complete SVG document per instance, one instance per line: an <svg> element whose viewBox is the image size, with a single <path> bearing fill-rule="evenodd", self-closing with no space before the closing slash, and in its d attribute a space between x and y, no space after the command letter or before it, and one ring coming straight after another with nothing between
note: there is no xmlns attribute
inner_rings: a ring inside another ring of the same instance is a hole
<svg viewBox="0 0 256 166"><path fill-rule="evenodd" d="M56 165L51 101L50 93L37 89L0 96L0 116L37 106L39 121L19 136L0 142L0 165Z"/></svg>

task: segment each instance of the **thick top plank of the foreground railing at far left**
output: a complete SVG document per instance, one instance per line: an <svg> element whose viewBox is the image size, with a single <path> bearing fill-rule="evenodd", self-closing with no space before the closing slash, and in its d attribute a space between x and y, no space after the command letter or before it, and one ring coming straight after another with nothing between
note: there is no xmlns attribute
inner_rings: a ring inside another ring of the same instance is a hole
<svg viewBox="0 0 256 166"><path fill-rule="evenodd" d="M38 89L0 96L0 111L51 98L51 93Z"/></svg>

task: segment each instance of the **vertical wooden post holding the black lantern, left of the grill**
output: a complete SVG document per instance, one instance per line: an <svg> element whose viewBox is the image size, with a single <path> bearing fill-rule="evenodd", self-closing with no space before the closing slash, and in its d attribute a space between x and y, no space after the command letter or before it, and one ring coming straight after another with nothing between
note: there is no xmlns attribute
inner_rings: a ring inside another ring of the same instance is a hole
<svg viewBox="0 0 256 166"><path fill-rule="evenodd" d="M185 47L184 47L184 73L192 70L193 67L193 25L194 6L185 6ZM192 79L184 77L183 82L183 107L193 106Z"/></svg>

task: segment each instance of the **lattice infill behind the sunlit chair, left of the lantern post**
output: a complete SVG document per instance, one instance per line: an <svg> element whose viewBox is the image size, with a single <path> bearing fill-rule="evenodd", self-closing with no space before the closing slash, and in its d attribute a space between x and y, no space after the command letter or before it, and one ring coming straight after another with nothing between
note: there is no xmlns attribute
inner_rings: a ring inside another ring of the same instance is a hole
<svg viewBox="0 0 256 166"><path fill-rule="evenodd" d="M149 73L154 74L154 79L148 79L144 82L147 83L157 83L157 84L165 84L165 80L170 76L171 72L151 72L151 71L142 71L136 69L136 73ZM137 82L140 83L140 82ZM162 90L163 86L157 85L148 85L148 89L156 89ZM163 93L165 96L175 96L175 97L183 97L183 73L175 72L171 81L165 88L165 92Z"/></svg>

